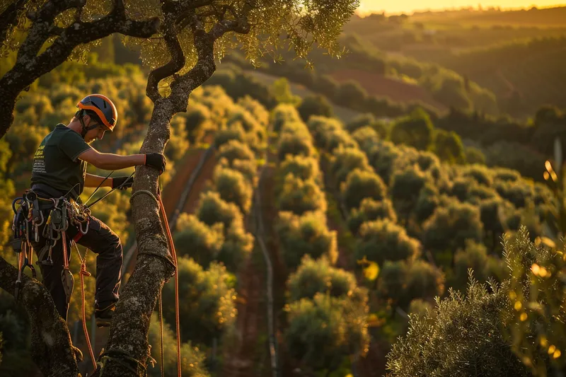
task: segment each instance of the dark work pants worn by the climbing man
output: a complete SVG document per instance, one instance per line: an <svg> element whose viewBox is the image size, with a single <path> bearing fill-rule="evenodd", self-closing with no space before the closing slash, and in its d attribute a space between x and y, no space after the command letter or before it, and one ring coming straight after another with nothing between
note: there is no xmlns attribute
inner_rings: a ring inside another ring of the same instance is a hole
<svg viewBox="0 0 566 377"><path fill-rule="evenodd" d="M45 219L49 216L50 209L43 210ZM42 236L45 224L39 227L40 240L38 243L33 242L33 250L37 257L43 248L46 238ZM83 227L84 228L84 227ZM79 234L80 231L76 226L69 223L67 229L67 257L71 259L71 240ZM91 216L88 231L77 242L79 245L93 251L96 257L96 293L95 301L104 308L110 303L118 300L118 289L120 288L120 280L122 279L122 243L120 238L106 224ZM61 272L63 270L63 247L62 238L57 240L52 250L53 265L40 265L43 276L43 284L50 291L55 307L64 320L67 320L67 311L69 305L65 297L63 283L61 280ZM73 248L74 249L74 248ZM72 250L76 253L76 249ZM45 253L43 260L47 260L49 253ZM78 272L78 271L71 271ZM80 283L79 283L80 284Z"/></svg>

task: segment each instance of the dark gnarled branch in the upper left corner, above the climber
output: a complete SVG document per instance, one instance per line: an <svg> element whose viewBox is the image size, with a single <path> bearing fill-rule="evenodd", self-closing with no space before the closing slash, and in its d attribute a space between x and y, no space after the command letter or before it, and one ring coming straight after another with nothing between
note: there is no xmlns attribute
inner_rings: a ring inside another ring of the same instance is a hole
<svg viewBox="0 0 566 377"><path fill-rule="evenodd" d="M21 91L30 86L43 74L65 62L75 47L106 37L112 33L121 33L134 37L150 37L156 33L158 19L132 21L126 18L121 0L100 20L83 22L77 20L68 28L56 28L53 20L57 14L69 8L80 8L81 0L47 1L36 14L29 15L33 21L30 33L18 50L16 64L0 79L0 138L13 122L13 108ZM49 37L57 39L45 52L37 55Z"/></svg>

